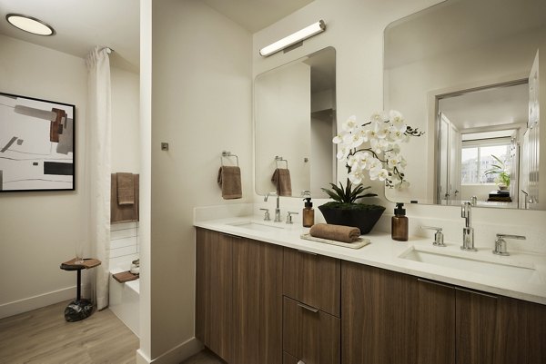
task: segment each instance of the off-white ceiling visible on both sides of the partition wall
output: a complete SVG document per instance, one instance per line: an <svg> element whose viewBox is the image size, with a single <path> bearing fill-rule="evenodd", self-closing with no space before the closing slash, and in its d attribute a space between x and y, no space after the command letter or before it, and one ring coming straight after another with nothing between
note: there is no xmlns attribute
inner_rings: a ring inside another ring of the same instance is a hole
<svg viewBox="0 0 546 364"><path fill-rule="evenodd" d="M201 1L255 33L313 0ZM56 35L25 33L5 21L9 13L34 16L52 25ZM105 45L115 51L113 65L138 71L138 0L0 0L0 15L0 34L82 58L95 45Z"/></svg>

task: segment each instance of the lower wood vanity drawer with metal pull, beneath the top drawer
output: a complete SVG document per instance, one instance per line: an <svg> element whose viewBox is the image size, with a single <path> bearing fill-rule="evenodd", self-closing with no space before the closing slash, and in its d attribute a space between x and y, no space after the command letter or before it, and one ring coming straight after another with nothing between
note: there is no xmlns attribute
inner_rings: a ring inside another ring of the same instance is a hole
<svg viewBox="0 0 546 364"><path fill-rule="evenodd" d="M283 363L339 364L340 325L337 317L284 297Z"/></svg>

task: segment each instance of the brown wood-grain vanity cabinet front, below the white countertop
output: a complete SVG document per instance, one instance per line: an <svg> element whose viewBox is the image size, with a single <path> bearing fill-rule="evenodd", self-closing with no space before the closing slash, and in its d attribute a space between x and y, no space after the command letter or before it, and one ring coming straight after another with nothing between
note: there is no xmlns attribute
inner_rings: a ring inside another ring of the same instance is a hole
<svg viewBox="0 0 546 364"><path fill-rule="evenodd" d="M546 306L197 228L196 337L229 364L544 364Z"/></svg>

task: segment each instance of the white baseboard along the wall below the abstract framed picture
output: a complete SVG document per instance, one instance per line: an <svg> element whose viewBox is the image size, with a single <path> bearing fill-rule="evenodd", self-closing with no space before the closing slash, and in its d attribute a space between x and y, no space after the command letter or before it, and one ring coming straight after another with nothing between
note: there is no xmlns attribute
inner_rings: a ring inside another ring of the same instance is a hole
<svg viewBox="0 0 546 364"><path fill-rule="evenodd" d="M54 290L23 300L15 300L0 305L0 319L14 316L30 310L40 309L63 300L76 298L76 286L67 287L62 290Z"/></svg>

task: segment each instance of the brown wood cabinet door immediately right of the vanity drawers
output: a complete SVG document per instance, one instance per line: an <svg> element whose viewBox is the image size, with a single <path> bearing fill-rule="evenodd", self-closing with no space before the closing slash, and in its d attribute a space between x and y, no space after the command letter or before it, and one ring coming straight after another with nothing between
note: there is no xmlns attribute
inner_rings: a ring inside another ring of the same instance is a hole
<svg viewBox="0 0 546 364"><path fill-rule="evenodd" d="M343 363L416 363L417 304L418 287L414 277L343 261Z"/></svg>

